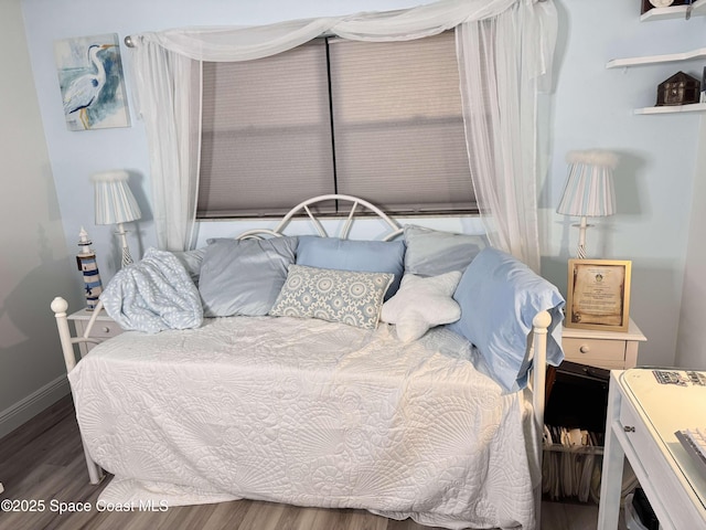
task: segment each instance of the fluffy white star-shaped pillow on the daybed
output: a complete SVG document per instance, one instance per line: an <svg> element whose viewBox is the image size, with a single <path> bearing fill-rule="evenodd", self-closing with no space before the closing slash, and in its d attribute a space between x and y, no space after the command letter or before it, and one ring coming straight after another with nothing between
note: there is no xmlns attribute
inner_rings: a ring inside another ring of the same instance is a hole
<svg viewBox="0 0 706 530"><path fill-rule="evenodd" d="M461 318L461 308L451 297L461 279L460 271L422 277L405 274L397 294L383 304L381 320L397 327L404 342L417 340L430 328Z"/></svg>

